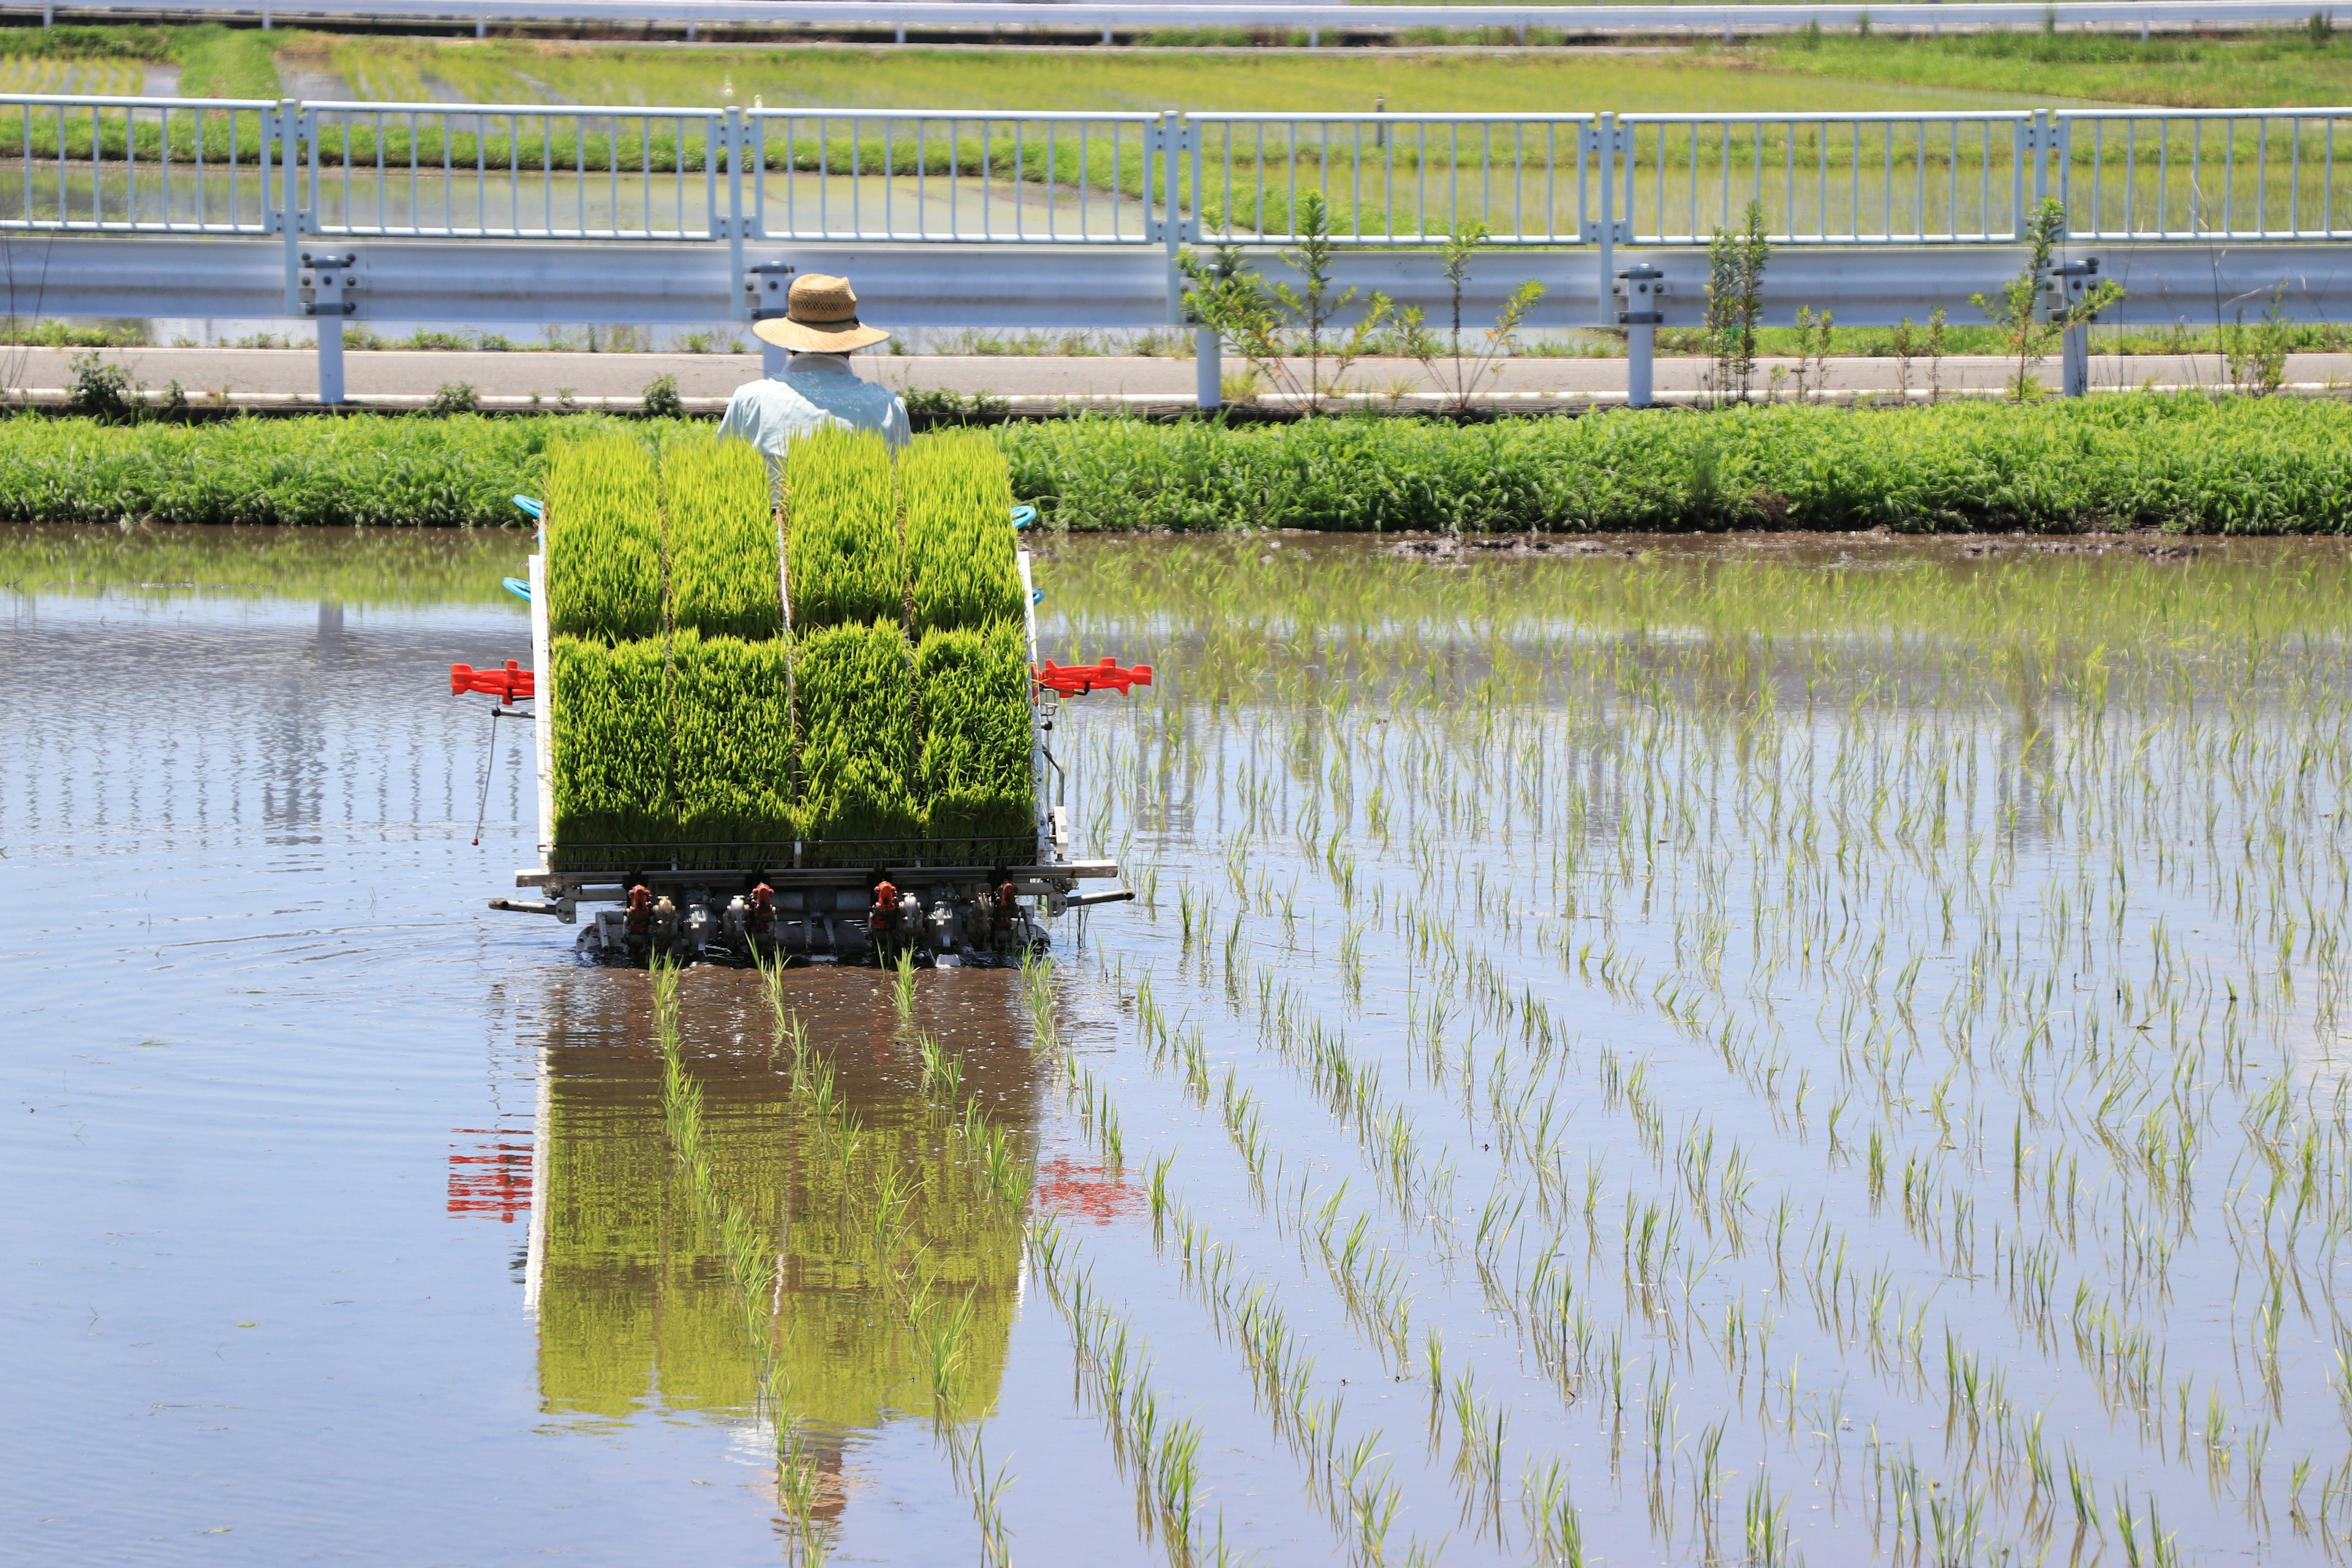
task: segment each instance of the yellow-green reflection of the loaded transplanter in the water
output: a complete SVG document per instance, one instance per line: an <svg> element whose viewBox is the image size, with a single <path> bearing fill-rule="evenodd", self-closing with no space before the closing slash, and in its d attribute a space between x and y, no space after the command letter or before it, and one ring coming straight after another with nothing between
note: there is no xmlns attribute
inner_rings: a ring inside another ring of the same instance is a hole
<svg viewBox="0 0 2352 1568"><path fill-rule="evenodd" d="M927 980L913 1030L962 1056L964 1086L1030 1150L1040 1074L1018 980L981 971ZM957 1420L997 1401L1021 1241L990 1211L953 1117L924 1093L887 983L870 971L793 971L786 997L858 1121L847 1161L809 1095L793 1091L757 973L687 971L682 1034L717 1187L781 1262L764 1333L790 1375L795 1413L816 1429L821 1465L837 1474L856 1432L934 1415L929 1363L873 1225L870 1194L884 1173L915 1190L898 1267L913 1260L946 1300L971 1300L948 1401ZM541 1408L583 1422L642 1410L753 1418L757 1356L741 1298L663 1131L647 976L562 976L543 1046L539 1171L529 1291Z"/></svg>

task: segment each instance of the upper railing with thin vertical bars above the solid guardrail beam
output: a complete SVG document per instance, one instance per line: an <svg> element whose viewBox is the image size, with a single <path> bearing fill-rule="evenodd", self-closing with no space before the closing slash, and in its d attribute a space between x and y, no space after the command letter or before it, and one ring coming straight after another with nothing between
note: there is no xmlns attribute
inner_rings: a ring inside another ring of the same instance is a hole
<svg viewBox="0 0 2352 1568"><path fill-rule="evenodd" d="M0 96L0 228L1294 244L2352 240L2352 108L1254 115Z"/></svg>

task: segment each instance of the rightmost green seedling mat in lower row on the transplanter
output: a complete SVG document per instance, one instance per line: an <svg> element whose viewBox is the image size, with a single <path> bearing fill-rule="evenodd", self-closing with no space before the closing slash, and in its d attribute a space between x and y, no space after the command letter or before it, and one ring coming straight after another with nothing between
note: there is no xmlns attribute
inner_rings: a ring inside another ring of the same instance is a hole
<svg viewBox="0 0 2352 1568"><path fill-rule="evenodd" d="M985 858L1035 849L1030 679L1021 628L929 632L915 649L922 691L917 778L934 839L990 839Z"/></svg>

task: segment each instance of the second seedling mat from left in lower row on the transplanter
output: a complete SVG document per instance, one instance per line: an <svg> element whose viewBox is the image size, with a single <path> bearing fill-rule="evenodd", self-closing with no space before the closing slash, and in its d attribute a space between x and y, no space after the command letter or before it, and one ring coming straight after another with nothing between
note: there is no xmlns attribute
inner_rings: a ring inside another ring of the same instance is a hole
<svg viewBox="0 0 2352 1568"><path fill-rule="evenodd" d="M781 639L670 637L677 842L781 844L793 827L793 686Z"/></svg>

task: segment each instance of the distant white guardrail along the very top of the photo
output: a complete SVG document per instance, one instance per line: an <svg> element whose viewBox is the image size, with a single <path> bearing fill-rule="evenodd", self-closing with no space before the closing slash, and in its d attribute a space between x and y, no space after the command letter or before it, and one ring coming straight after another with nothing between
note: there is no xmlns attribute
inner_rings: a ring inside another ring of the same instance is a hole
<svg viewBox="0 0 2352 1568"><path fill-rule="evenodd" d="M2319 9L2331 0L2317 0ZM2296 26L2314 0L1893 0L1889 5L1061 5L1035 0L5 0L0 14L64 19L169 16L191 21L550 24L920 31L1042 28L1141 35L1162 28L1279 28L1404 33L1418 28L1573 31L1578 35L1783 33L1818 24L1853 28L1867 16L1891 31L2180 31Z"/></svg>

